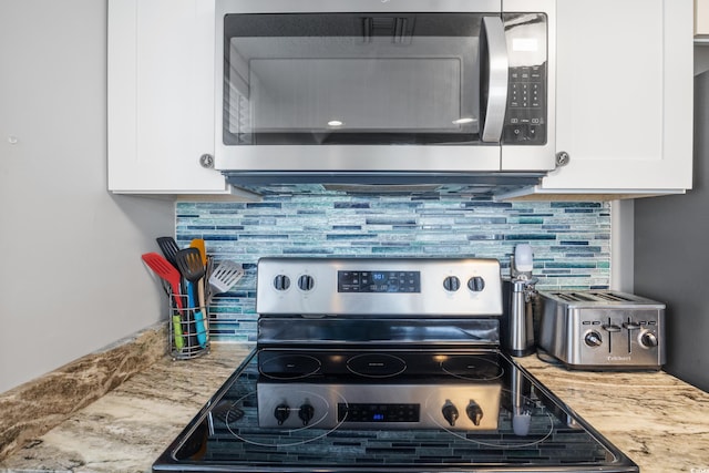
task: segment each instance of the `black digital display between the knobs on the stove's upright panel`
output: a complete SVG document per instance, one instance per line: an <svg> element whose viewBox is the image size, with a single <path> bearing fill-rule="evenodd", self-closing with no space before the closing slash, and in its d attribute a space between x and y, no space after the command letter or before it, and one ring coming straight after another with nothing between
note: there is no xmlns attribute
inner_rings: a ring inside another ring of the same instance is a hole
<svg viewBox="0 0 709 473"><path fill-rule="evenodd" d="M338 271L338 292L421 292L420 271Z"/></svg>

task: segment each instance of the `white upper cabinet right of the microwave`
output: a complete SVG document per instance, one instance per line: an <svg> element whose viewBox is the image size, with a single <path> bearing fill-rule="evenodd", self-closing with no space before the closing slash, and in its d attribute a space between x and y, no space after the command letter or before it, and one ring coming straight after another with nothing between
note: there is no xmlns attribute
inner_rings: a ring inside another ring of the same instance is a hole
<svg viewBox="0 0 709 473"><path fill-rule="evenodd" d="M691 187L691 0L557 2L556 150L537 193Z"/></svg>

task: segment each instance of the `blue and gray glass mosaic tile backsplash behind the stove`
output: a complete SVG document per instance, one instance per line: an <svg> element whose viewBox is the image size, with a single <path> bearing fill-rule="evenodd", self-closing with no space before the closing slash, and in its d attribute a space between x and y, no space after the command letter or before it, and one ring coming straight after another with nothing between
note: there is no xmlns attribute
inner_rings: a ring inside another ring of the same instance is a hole
<svg viewBox="0 0 709 473"><path fill-rule="evenodd" d="M204 238L215 264L228 259L245 269L213 299L214 341L256 340L263 256L484 257L497 258L506 276L515 245L528 243L538 289L605 289L610 278L609 203L321 195L179 202L177 244L193 238Z"/></svg>

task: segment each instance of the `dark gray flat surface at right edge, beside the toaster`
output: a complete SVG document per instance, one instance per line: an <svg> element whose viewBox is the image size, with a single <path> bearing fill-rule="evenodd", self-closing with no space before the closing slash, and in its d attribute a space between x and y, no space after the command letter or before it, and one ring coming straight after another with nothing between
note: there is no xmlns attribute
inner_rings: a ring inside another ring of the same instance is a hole
<svg viewBox="0 0 709 473"><path fill-rule="evenodd" d="M695 184L635 203L635 291L665 301L666 371L709 391L709 72L695 78Z"/></svg>

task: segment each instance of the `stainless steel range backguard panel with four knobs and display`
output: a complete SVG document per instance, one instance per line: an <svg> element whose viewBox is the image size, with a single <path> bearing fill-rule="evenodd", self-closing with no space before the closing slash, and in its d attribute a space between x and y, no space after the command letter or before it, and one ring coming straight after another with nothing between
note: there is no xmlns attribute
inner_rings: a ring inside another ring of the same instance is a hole
<svg viewBox="0 0 709 473"><path fill-rule="evenodd" d="M500 261L486 258L261 258L261 316L497 317Z"/></svg>

